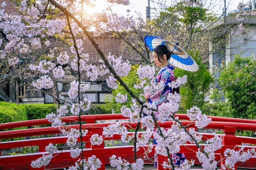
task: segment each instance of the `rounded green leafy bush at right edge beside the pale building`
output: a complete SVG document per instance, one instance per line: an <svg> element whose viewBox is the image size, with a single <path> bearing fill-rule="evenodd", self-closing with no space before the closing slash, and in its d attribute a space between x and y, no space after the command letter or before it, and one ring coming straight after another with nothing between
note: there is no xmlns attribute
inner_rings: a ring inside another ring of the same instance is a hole
<svg viewBox="0 0 256 170"><path fill-rule="evenodd" d="M237 110L233 117L248 118L255 115L255 64L253 57L241 58L236 55L234 62L229 62L220 73L220 86L224 96L231 108Z"/></svg>

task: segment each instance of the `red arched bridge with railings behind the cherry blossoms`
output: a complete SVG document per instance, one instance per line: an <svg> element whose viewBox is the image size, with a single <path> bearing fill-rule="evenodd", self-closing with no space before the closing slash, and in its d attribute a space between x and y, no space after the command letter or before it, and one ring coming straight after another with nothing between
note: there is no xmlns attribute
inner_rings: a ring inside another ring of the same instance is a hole
<svg viewBox="0 0 256 170"><path fill-rule="evenodd" d="M188 117L184 114L176 114L183 125L190 124L192 121L188 121ZM134 161L133 156L133 146L111 146L104 147L104 144L100 146L92 146L90 144L90 137L93 134L102 134L103 127L108 126L110 123L97 123L106 120L121 120L127 119L123 117L121 114L110 114L110 115L84 115L81 116L81 121L85 124L82 125L83 129L88 129L88 135L83 137L83 141L85 141L85 149L83 150L83 155L85 158L90 157L91 155L95 155L97 158L101 160L101 168L99 170L104 170L105 166L110 164L110 157L112 155L116 155L117 157L121 157L122 159L126 159L130 163ZM208 129L218 129L223 130L224 134L222 136L222 148L215 152L216 161L220 161L218 166L224 163L222 160L223 152L227 148L233 149L236 145L246 145L245 150L249 148L256 148L256 138L254 137L243 137L243 136L235 136L236 130L249 130L256 131L256 120L249 119L237 119L237 118L227 118L227 117L211 117L211 123L206 127ZM78 121L78 117L63 117L64 122L74 122ZM115 121L114 121L115 122ZM125 123L125 122L124 122ZM19 121L19 122L11 122L6 124L0 124L0 139L13 139L17 137L31 137L38 135L53 135L60 134L58 128L54 127L43 127L43 128L27 128L29 126L36 125L45 125L49 124L47 119L36 119L36 120L28 120L28 121ZM162 127L170 127L172 121L166 121L164 124L159 123ZM129 123L130 127L135 128L136 124ZM11 128L17 127L26 127L26 129L21 130L9 130ZM79 125L70 125L72 128L79 128ZM6 131L4 131L6 130ZM131 132L132 133L132 132ZM201 133L204 138L211 138L213 134L211 133ZM0 142L0 150L8 150L10 148L19 148L25 146L39 146L39 151L36 153L29 154L20 154L20 155L0 155L0 170L35 170L30 166L31 161L42 157L44 154L48 154L45 151L45 146L49 143L52 144L65 144L67 137L53 135L54 137L43 137L36 139L24 139L24 140L16 140L16 141L4 141ZM120 139L120 135L114 135L112 138L106 138L104 140L118 140ZM204 144L202 144L203 146ZM195 164L200 164L197 157L195 157L195 152L198 150L195 144L184 144L181 145L181 151L186 156L188 160L195 160ZM194 152L195 151L195 152ZM0 152L1 153L1 152ZM57 168L67 168L69 166L73 166L74 162L77 159L73 159L70 157L70 150L58 151L55 153L56 157L52 158L52 161L45 167L37 168L38 170L47 170L47 169L57 169ZM138 157L143 156L143 150L138 151ZM154 154L150 155L154 157ZM166 157L158 156L159 163L162 163L166 160ZM146 162L150 163L150 161ZM246 162L238 162L237 167L239 168L256 168L256 158L251 158ZM157 169L164 169L162 166L158 166Z"/></svg>

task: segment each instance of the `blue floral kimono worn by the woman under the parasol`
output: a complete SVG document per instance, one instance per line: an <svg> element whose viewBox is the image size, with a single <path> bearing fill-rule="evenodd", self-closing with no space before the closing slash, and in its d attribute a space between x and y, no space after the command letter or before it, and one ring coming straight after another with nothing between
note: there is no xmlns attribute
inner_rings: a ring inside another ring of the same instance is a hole
<svg viewBox="0 0 256 170"><path fill-rule="evenodd" d="M168 86L168 83L171 83L172 81L174 81L174 78L175 78L173 73L174 68L175 67L172 65L167 65L161 68L161 70L158 72L157 77L155 78L155 84L159 83L160 81L163 81L165 84L165 87L163 91L159 91L157 94L149 96L149 99L148 99L149 103L151 104L154 103L158 107L162 103L168 102L167 95L168 93L172 93L172 88ZM157 112L155 114L155 117L157 118L158 115L159 113ZM155 139L154 139L154 144L157 144ZM175 166L180 166L180 163L183 163L183 161L185 160L185 156L183 153L175 153L172 155L172 159L173 159L173 164ZM155 157L155 161L156 161L156 157ZM155 163L155 167L156 167L156 163Z"/></svg>

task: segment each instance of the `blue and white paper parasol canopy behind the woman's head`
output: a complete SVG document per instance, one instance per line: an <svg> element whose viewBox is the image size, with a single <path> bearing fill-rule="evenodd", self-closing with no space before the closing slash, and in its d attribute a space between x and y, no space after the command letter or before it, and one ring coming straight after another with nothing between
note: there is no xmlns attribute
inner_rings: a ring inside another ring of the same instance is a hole
<svg viewBox="0 0 256 170"><path fill-rule="evenodd" d="M198 71L198 64L195 62L195 60L193 60L193 58L177 44L173 44L172 42L164 40L163 38L150 35L145 36L144 41L151 51L153 51L153 49L158 45L166 45L173 53L168 61L173 66L186 71Z"/></svg>

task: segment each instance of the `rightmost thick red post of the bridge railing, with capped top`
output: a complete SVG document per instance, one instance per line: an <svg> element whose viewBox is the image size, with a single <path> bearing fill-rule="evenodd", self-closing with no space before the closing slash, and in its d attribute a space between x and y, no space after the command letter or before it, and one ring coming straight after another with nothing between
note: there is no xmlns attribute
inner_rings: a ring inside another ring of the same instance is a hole
<svg viewBox="0 0 256 170"><path fill-rule="evenodd" d="M236 127L235 126L225 126L224 127L224 135L222 136L222 146L228 146L230 148L234 148L236 146ZM225 164L224 154L220 154L220 169L223 170L221 165ZM237 164L235 164L235 170L237 170Z"/></svg>

